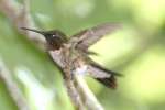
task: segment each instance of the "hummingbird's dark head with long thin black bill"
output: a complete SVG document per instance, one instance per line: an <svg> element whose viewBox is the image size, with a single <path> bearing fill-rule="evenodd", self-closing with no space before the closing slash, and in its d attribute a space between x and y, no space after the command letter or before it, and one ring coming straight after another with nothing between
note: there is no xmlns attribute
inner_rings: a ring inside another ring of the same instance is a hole
<svg viewBox="0 0 165 110"><path fill-rule="evenodd" d="M59 50L63 43L67 42L66 35L58 30L37 31L33 29L28 29L28 28L21 28L21 29L42 34L46 38L50 50Z"/></svg>

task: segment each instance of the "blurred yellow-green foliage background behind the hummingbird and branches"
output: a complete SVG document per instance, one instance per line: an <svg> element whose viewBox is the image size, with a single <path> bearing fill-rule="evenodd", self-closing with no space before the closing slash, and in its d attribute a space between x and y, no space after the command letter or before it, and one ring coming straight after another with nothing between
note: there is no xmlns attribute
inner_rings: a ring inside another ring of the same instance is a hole
<svg viewBox="0 0 165 110"><path fill-rule="evenodd" d="M74 110L59 70L18 31L3 1L23 3L0 0L1 72L21 89L31 110ZM91 56L96 62L123 74L118 89L86 77L90 89L106 110L165 109L165 0L30 0L30 14L37 29L68 36L105 22L121 23L122 29L90 48L99 53ZM0 110L18 110L8 78L0 76Z"/></svg>

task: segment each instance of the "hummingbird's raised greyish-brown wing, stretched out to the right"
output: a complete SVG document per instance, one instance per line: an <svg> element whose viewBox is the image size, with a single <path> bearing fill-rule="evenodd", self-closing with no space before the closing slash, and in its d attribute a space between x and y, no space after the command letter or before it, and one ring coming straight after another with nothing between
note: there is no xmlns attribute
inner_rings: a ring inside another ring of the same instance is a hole
<svg viewBox="0 0 165 110"><path fill-rule="evenodd" d="M97 25L95 28L84 30L77 34L75 34L72 38L78 38L77 47L81 50L87 50L90 45L95 44L99 41L102 36L112 33L121 25L117 23L105 23Z"/></svg>

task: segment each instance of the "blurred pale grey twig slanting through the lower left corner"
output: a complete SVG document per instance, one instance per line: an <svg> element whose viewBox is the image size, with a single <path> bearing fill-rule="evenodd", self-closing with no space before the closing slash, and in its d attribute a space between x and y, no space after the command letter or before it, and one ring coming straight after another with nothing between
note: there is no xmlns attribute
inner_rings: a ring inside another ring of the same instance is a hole
<svg viewBox="0 0 165 110"><path fill-rule="evenodd" d="M4 81L8 91L16 103L19 110L30 110L26 101L18 87L18 84L12 79L10 72L0 59L0 78Z"/></svg>

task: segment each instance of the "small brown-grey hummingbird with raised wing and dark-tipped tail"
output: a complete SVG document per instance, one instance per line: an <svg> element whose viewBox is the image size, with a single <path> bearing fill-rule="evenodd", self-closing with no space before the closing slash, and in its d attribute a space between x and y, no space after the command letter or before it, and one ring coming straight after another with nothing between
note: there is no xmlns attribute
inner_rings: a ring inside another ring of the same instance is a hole
<svg viewBox="0 0 165 110"><path fill-rule="evenodd" d="M97 53L88 48L102 38L105 35L114 32L120 28L120 24L105 23L91 29L86 29L69 38L59 30L37 31L29 28L21 28L26 31L32 31L42 34L47 44L48 51L65 50L65 45L69 44L72 53L72 73L78 75L89 75L103 84L108 88L117 88L117 76L121 74L102 67L100 64L92 61L89 55Z"/></svg>

